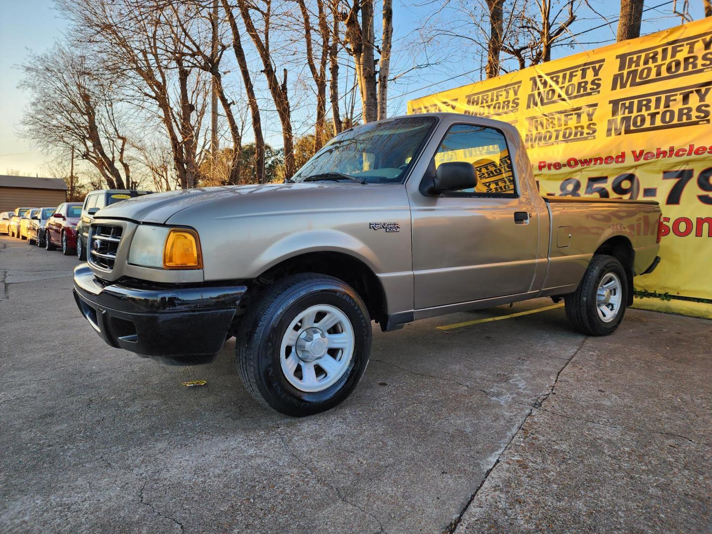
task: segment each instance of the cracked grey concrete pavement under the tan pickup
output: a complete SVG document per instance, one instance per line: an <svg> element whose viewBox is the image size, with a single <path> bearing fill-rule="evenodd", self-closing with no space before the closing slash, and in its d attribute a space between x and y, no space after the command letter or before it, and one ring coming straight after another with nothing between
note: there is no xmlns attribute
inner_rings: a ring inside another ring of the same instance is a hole
<svg viewBox="0 0 712 534"><path fill-rule="evenodd" d="M586 338L561 308L383 334L355 394L259 407L234 340L204 367L108 347L75 258L0 237L0 531L705 532L712 329L629 310ZM192 379L204 387L184 387Z"/></svg>

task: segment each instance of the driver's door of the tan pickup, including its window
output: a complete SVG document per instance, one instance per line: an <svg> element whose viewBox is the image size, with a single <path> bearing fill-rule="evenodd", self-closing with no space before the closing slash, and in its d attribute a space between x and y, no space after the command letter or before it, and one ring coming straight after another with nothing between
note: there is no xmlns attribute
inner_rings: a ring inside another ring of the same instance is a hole
<svg viewBox="0 0 712 534"><path fill-rule="evenodd" d="M526 293L538 211L518 190L506 137L493 127L451 125L429 172L444 162L473 164L477 183L412 201L415 308Z"/></svg>

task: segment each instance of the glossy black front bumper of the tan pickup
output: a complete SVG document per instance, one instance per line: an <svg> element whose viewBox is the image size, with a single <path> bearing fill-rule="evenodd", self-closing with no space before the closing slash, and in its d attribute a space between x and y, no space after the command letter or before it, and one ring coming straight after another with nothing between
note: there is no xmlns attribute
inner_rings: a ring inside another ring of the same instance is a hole
<svg viewBox="0 0 712 534"><path fill-rule="evenodd" d="M80 312L112 347L173 365L214 360L246 286L131 287L74 269Z"/></svg>

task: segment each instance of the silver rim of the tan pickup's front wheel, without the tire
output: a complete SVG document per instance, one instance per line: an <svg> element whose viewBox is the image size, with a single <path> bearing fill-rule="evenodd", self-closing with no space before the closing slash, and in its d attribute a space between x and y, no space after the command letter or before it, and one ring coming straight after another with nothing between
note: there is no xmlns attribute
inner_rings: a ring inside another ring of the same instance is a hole
<svg viewBox="0 0 712 534"><path fill-rule="evenodd" d="M354 345L354 329L345 313L327 304L310 306L298 313L282 337L282 372L300 391L323 391L344 375Z"/></svg>

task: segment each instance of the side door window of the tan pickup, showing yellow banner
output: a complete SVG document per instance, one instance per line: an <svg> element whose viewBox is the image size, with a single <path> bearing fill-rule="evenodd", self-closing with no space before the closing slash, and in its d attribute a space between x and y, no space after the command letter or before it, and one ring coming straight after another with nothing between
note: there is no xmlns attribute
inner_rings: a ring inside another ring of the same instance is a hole
<svg viewBox="0 0 712 534"><path fill-rule="evenodd" d="M475 167L477 184L463 189L466 196L515 197L512 162L504 134L495 128L453 125L435 154L435 167L445 162L468 162Z"/></svg>

